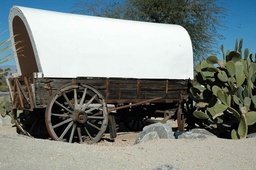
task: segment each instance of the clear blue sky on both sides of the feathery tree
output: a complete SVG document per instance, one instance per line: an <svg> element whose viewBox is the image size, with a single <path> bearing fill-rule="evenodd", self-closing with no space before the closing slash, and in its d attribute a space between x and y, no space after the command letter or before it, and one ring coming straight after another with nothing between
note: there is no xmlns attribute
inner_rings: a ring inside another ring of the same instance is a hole
<svg viewBox="0 0 256 170"><path fill-rule="evenodd" d="M79 0L0 0L0 42L9 38L8 16L12 6L44 9L57 12L70 13L72 6ZM82 0L80 0L82 1ZM224 1L224 0L223 0ZM256 1L255 0L226 0L228 15L225 26L227 29L219 30L224 40L218 40L218 46L224 45L225 51L233 51L236 39L243 38L243 49L249 48L250 53L256 53ZM221 51L220 51L221 52ZM206 56L207 57L207 56ZM222 60L222 54L217 56ZM15 65L14 60L1 65ZM0 65L0 66L1 66Z"/></svg>

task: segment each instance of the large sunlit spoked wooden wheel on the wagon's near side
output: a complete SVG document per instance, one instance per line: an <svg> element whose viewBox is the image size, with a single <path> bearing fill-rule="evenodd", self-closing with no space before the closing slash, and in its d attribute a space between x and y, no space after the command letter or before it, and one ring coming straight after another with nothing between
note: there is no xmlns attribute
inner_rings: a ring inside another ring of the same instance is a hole
<svg viewBox="0 0 256 170"><path fill-rule="evenodd" d="M108 126L108 110L103 95L83 83L61 87L48 102L46 126L54 140L98 142Z"/></svg>

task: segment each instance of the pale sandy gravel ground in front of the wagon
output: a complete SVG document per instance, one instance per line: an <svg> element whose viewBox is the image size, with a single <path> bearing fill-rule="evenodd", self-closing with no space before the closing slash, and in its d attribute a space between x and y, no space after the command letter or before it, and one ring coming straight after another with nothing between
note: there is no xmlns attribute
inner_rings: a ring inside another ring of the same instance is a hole
<svg viewBox="0 0 256 170"><path fill-rule="evenodd" d="M108 135L108 134L107 134ZM107 136L106 135L106 136ZM94 145L34 139L0 126L0 169L256 169L256 138L158 139L132 145L137 133Z"/></svg>

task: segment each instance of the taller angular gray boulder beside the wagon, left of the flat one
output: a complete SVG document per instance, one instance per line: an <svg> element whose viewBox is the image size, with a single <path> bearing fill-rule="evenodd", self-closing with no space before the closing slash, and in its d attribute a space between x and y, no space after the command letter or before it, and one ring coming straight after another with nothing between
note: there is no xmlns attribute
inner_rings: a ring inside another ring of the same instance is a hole
<svg viewBox="0 0 256 170"><path fill-rule="evenodd" d="M143 131L139 133L134 144L154 139L175 139L172 126L169 123L156 123L145 126Z"/></svg>

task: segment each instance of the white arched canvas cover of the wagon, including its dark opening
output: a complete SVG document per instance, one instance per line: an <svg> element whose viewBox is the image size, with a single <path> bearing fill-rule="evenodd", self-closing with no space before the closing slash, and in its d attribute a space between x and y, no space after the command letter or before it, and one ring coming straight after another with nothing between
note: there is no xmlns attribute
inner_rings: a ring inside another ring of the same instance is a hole
<svg viewBox="0 0 256 170"><path fill-rule="evenodd" d="M193 51L181 26L14 6L9 28L23 41L21 75L193 79ZM14 48L15 48L14 47ZM15 50L15 49L14 49Z"/></svg>

